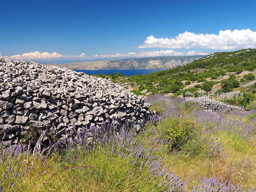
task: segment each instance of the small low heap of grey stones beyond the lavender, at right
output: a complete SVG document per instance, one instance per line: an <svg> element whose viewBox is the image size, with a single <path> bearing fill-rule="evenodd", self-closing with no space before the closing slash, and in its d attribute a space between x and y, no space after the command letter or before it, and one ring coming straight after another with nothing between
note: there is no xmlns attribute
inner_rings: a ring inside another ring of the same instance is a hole
<svg viewBox="0 0 256 192"><path fill-rule="evenodd" d="M206 97L197 97L193 99L193 102L199 104L206 110L210 111L243 111L242 108L233 106L233 105L227 105L223 102L216 101L214 99L206 98Z"/></svg>

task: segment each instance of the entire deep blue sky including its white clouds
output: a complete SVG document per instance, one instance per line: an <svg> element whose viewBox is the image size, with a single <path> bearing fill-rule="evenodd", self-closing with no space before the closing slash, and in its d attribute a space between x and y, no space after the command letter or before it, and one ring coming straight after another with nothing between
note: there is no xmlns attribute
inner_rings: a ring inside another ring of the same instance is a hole
<svg viewBox="0 0 256 192"><path fill-rule="evenodd" d="M11 59L195 55L256 47L256 1L1 1L1 7L0 55Z"/></svg>

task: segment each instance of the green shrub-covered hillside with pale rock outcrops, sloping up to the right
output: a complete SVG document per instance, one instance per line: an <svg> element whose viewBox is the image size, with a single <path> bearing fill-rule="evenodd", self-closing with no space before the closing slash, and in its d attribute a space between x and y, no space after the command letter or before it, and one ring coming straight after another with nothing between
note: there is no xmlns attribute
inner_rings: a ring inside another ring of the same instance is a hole
<svg viewBox="0 0 256 192"><path fill-rule="evenodd" d="M232 91L254 93L255 60L256 49L242 49L234 52L212 53L184 66L148 75L98 76L111 77L114 82L141 95L162 93L178 96L184 95L186 91L193 92L195 96L202 93L211 93L216 96L221 92Z"/></svg>

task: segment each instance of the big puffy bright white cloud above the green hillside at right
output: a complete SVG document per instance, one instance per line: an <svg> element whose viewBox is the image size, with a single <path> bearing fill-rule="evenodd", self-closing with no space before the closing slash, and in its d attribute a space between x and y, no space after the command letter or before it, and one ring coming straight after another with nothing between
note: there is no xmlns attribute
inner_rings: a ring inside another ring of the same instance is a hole
<svg viewBox="0 0 256 192"><path fill-rule="evenodd" d="M242 30L220 30L215 34L195 34L191 32L180 33L175 38L156 38L148 36L143 45L138 48L172 48L172 49L242 49L256 48L256 31L250 29Z"/></svg>

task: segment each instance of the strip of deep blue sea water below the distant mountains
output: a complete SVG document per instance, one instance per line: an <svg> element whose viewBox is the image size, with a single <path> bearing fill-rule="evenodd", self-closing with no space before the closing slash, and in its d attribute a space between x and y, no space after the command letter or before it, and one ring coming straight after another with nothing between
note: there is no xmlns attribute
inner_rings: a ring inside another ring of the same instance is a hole
<svg viewBox="0 0 256 192"><path fill-rule="evenodd" d="M101 74L111 74L114 73L115 75L120 72L124 76L132 76L132 75L145 75L149 73L153 73L156 71L163 71L167 69L100 69L100 70L75 70L77 72L84 72L87 75L99 75Z"/></svg>

